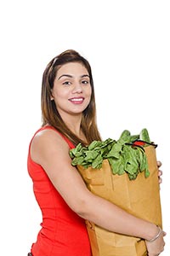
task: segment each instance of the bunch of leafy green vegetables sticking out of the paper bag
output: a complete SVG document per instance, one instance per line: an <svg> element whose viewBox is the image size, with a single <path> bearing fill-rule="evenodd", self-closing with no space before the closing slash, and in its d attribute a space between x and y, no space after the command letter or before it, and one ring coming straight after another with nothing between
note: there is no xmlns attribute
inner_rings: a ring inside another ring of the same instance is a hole
<svg viewBox="0 0 170 256"><path fill-rule="evenodd" d="M113 174L127 173L130 180L135 179L139 172L144 172L145 177L149 177L144 153L144 147L148 145L150 137L145 128L139 135L131 135L130 131L125 130L117 141L108 138L105 141L94 141L87 147L79 143L76 148L70 150L71 165L100 169L103 160L107 159Z"/></svg>

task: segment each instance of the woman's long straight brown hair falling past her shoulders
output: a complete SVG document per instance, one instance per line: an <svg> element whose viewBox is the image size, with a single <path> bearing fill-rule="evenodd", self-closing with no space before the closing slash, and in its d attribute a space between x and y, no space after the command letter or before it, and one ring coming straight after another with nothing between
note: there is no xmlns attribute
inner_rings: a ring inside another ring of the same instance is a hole
<svg viewBox="0 0 170 256"><path fill-rule="evenodd" d="M91 67L89 62L82 57L77 51L73 49L65 50L60 55L54 57L52 61L48 63L43 76L42 76L42 126L52 125L65 137L68 137L74 145L78 143L85 144L79 137L77 137L71 130L65 125L65 122L59 115L59 112L55 106L55 102L51 101L51 90L54 87L54 79L59 70L59 67L68 62L81 62L88 71L90 77L90 84L92 87L92 96L88 104L88 107L82 113L81 128L88 143L94 140L101 140L99 130L96 124L96 105L94 97L94 80L92 76Z"/></svg>

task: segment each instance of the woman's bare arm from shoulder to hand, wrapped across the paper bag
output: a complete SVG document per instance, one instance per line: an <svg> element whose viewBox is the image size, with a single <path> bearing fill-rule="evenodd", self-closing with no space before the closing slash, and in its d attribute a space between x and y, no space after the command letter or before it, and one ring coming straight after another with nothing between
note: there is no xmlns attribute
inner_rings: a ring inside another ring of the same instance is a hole
<svg viewBox="0 0 170 256"><path fill-rule="evenodd" d="M77 168L71 166L67 143L55 131L41 131L31 143L31 158L43 167L48 177L74 212L106 230L150 240L158 228L136 218L120 207L91 193ZM164 246L163 232L152 244L159 252ZM153 250L154 250L153 249ZM155 254L153 254L155 255Z"/></svg>

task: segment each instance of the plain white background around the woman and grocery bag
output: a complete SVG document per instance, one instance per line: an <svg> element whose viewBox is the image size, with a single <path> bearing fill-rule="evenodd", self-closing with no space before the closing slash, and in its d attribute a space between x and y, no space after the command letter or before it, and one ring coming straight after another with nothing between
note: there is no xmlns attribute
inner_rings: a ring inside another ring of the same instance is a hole
<svg viewBox="0 0 170 256"><path fill-rule="evenodd" d="M162 162L161 206L170 255L169 1L2 1L1 253L26 255L42 221L26 169L41 125L42 72L65 49L91 63L103 138L148 128Z"/></svg>

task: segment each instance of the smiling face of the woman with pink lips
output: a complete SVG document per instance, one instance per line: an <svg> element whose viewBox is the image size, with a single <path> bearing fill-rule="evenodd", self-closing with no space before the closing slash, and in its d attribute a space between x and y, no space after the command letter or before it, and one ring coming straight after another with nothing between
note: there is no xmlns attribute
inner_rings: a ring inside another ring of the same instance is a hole
<svg viewBox="0 0 170 256"><path fill-rule="evenodd" d="M59 114L76 115L88 107L92 94L88 70L80 62L61 66L54 79L52 99Z"/></svg>

